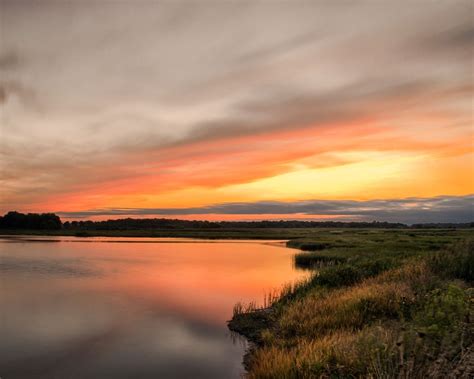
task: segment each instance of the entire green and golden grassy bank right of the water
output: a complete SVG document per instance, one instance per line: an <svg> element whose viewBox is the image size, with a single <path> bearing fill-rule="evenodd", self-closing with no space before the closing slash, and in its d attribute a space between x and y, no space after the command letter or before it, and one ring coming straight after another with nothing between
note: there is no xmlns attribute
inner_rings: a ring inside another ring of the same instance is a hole
<svg viewBox="0 0 474 379"><path fill-rule="evenodd" d="M292 240L315 275L238 305L250 378L474 375L474 242L463 231L327 231ZM472 233L471 233L472 234Z"/></svg>

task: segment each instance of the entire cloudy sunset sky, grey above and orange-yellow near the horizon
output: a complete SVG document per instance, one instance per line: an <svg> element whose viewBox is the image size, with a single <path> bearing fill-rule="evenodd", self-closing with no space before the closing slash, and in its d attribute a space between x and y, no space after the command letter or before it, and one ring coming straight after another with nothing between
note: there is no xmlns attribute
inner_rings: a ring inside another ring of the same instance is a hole
<svg viewBox="0 0 474 379"><path fill-rule="evenodd" d="M0 212L473 221L473 7L0 0Z"/></svg>

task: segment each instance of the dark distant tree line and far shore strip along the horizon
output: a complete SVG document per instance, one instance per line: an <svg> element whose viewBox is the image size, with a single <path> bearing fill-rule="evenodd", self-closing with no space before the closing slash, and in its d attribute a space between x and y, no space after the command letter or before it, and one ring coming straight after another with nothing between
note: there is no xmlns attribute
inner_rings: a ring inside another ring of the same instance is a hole
<svg viewBox="0 0 474 379"><path fill-rule="evenodd" d="M289 247L301 250L325 250L329 247L344 247L343 241L338 245L332 237L344 230L391 230L411 231L421 229L450 230L469 229L474 223L462 224L418 224L408 226L388 222L339 222L339 221L188 221L165 218L135 219L125 218L106 221L66 221L53 213L23 214L8 212L0 216L0 229L8 234L71 235L78 237L111 236L111 237L192 237L192 238L245 238L245 239L290 239ZM317 238L329 235L331 246ZM305 258L303 258L305 259Z"/></svg>

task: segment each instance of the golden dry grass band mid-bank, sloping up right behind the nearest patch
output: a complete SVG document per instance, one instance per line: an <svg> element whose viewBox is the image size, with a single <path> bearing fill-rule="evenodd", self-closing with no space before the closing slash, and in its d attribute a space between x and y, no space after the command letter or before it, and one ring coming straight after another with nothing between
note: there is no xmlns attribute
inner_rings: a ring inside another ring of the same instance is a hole
<svg viewBox="0 0 474 379"><path fill-rule="evenodd" d="M335 330L360 329L375 319L400 318L404 308L415 302L415 290L432 280L426 264L417 262L352 287L315 288L285 308L278 328L285 331L286 339L320 337Z"/></svg>

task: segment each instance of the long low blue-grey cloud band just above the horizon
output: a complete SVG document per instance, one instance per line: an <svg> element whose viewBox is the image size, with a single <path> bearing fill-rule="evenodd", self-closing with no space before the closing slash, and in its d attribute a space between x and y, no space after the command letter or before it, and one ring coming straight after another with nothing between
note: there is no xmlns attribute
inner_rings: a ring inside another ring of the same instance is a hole
<svg viewBox="0 0 474 379"><path fill-rule="evenodd" d="M302 200L294 202L257 201L224 203L189 208L105 208L79 212L58 212L65 218L97 216L185 216L185 215L269 215L340 216L344 220L377 220L403 223L472 222L474 221L474 194L466 196L437 196L433 198L406 198L388 200ZM217 217L218 219L218 217Z"/></svg>

